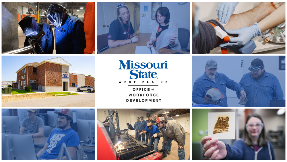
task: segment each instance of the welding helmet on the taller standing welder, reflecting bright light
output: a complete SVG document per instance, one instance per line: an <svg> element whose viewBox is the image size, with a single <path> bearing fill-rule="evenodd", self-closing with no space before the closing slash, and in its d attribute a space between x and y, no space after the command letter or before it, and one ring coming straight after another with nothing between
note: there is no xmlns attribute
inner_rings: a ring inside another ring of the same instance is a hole
<svg viewBox="0 0 287 162"><path fill-rule="evenodd" d="M47 10L47 19L59 28L62 25L64 11L67 10L62 5L51 4Z"/></svg>

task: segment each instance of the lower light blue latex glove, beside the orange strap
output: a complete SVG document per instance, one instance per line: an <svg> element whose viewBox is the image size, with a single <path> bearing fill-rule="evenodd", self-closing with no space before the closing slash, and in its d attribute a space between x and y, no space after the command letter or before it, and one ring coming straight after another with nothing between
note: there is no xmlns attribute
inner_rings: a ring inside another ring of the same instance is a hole
<svg viewBox="0 0 287 162"><path fill-rule="evenodd" d="M225 29L225 31L228 34L238 34L238 37L230 38L229 42L220 44L219 46L223 48L245 46L253 38L261 35L261 30L258 23L254 23L249 27L243 27L235 30Z"/></svg>

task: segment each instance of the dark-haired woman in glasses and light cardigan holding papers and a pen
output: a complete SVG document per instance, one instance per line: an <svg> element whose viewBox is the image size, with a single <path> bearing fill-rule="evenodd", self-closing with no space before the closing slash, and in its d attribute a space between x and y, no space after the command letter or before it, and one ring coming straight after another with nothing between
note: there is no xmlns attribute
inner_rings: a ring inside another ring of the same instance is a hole
<svg viewBox="0 0 287 162"><path fill-rule="evenodd" d="M170 19L170 14L169 14L169 10L167 7L159 7L156 10L156 22L157 23L154 25L154 28L152 30L152 36L150 37L150 41L146 43L148 48L152 47L152 43L154 42L155 42L154 46L156 47L156 39L158 38L158 36L160 36L160 33L162 33L162 31L170 27L174 27L172 36L169 37L168 39L170 44L164 48L181 51L179 39L177 38L178 32L179 32L177 29L177 24L175 24L172 21L169 21L169 19Z"/></svg>

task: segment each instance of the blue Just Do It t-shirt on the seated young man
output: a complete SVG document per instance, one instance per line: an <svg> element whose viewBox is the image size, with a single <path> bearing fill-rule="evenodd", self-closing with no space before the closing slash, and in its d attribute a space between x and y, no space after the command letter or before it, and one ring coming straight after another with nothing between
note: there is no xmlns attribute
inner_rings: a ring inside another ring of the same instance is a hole
<svg viewBox="0 0 287 162"><path fill-rule="evenodd" d="M56 159L59 155L62 143L65 143L67 147L76 146L78 148L80 139L78 134L71 128L64 131L57 128L51 132L47 143L49 143L48 149L39 156L39 159ZM63 157L64 156L66 156L65 152L63 154Z"/></svg>

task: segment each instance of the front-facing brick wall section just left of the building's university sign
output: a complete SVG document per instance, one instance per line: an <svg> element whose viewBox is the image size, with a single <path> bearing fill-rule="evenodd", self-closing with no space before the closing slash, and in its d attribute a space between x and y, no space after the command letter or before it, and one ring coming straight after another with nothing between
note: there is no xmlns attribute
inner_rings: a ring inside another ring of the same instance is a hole
<svg viewBox="0 0 287 162"><path fill-rule="evenodd" d="M62 86L62 65L46 63L46 84L48 87Z"/></svg>

